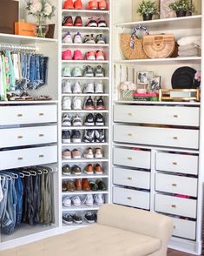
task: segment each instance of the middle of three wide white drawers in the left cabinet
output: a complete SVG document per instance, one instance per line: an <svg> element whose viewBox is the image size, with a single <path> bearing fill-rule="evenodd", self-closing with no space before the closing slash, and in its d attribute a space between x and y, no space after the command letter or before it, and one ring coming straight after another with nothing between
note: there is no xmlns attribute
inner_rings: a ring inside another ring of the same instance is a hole
<svg viewBox="0 0 204 256"><path fill-rule="evenodd" d="M0 147L38 145L57 141L56 125L0 129Z"/></svg>

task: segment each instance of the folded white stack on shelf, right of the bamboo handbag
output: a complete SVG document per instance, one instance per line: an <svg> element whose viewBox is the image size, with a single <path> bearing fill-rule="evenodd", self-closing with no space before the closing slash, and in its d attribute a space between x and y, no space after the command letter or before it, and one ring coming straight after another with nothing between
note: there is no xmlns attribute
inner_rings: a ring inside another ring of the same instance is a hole
<svg viewBox="0 0 204 256"><path fill-rule="evenodd" d="M179 44L179 57L201 56L201 36L181 37Z"/></svg>

